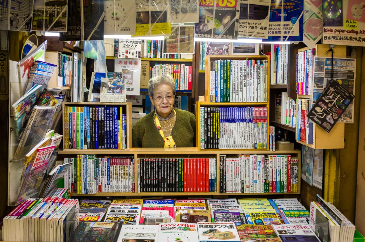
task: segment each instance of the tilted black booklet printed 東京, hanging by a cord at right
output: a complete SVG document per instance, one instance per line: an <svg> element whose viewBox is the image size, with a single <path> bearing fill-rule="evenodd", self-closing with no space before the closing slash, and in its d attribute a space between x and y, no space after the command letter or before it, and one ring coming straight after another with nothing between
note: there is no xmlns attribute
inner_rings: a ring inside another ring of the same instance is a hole
<svg viewBox="0 0 365 242"><path fill-rule="evenodd" d="M354 97L341 84L331 80L307 117L329 133Z"/></svg>

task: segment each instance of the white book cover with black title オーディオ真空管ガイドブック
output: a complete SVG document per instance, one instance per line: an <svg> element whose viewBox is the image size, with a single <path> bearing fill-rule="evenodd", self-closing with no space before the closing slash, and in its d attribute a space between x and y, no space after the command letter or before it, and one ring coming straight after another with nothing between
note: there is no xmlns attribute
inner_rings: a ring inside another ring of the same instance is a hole
<svg viewBox="0 0 365 242"><path fill-rule="evenodd" d="M141 58L141 39L119 39L118 58Z"/></svg>

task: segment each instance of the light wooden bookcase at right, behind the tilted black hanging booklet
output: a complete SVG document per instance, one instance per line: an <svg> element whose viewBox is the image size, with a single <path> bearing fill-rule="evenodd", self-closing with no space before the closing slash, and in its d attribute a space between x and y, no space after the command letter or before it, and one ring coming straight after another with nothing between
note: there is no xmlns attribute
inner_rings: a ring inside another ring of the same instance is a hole
<svg viewBox="0 0 365 242"><path fill-rule="evenodd" d="M317 44L317 45L315 45L313 55L318 56L318 57L331 57L331 52L328 52L329 49L330 49L330 46L327 44ZM310 48L301 48L301 49L298 49L298 53L304 52L307 50L310 50ZM346 46L335 45L333 50L334 50L333 57L346 57ZM311 88L311 87L309 87L309 88ZM313 90L312 90L312 92L313 92ZM307 100L307 99L311 100L313 98L312 96L313 96L313 94L311 94L311 95L298 94L297 98L303 99L303 100ZM298 110L298 100L296 101L296 109ZM308 108L308 110L310 110L310 107ZM307 120L308 120L308 118L307 118ZM298 124L300 124L300 122L298 122L298 117L297 117L296 132L298 132L298 128L299 128ZM344 138L345 138L345 124L344 123L337 122L330 133L327 133L326 131L324 131L322 128L320 128L318 125L316 125L314 123L313 124L313 143L308 144L308 143L300 141L300 140L296 140L296 141L299 144L303 144L303 145L306 145L306 146L314 148L314 149L342 149L342 148L344 148L344 145L345 145Z"/></svg>

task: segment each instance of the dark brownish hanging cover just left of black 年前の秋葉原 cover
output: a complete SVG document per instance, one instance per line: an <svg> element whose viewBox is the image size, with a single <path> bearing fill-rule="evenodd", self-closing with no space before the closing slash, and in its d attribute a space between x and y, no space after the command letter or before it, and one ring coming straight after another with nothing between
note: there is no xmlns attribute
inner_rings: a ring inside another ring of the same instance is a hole
<svg viewBox="0 0 365 242"><path fill-rule="evenodd" d="M34 1L32 30L67 31L68 0Z"/></svg>

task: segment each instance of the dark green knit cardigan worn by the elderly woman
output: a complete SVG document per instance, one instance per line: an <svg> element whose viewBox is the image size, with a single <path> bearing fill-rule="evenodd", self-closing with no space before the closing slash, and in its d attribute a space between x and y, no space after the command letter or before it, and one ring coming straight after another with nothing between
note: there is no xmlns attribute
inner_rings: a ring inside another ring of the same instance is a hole
<svg viewBox="0 0 365 242"><path fill-rule="evenodd" d="M176 147L195 147L195 115L176 109L176 121L171 134ZM164 147L162 136L154 122L154 112L142 117L132 129L133 147Z"/></svg>

